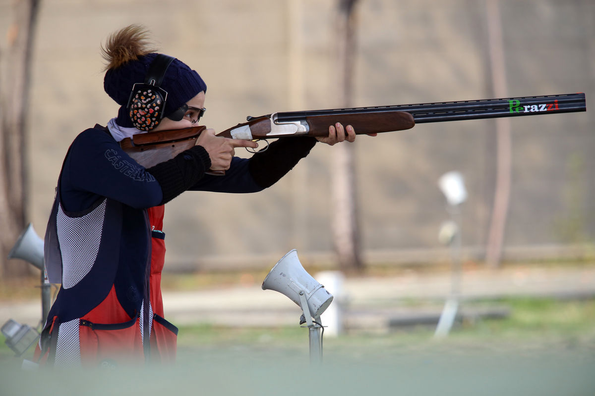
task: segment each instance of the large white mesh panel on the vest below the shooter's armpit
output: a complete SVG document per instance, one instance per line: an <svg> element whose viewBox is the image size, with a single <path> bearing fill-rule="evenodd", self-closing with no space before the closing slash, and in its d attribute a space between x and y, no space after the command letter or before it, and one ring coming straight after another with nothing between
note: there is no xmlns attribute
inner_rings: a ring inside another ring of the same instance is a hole
<svg viewBox="0 0 595 396"><path fill-rule="evenodd" d="M57 234L62 254L62 287L69 289L88 274L99 251L105 218L104 199L101 204L81 217L68 217L58 206Z"/></svg>

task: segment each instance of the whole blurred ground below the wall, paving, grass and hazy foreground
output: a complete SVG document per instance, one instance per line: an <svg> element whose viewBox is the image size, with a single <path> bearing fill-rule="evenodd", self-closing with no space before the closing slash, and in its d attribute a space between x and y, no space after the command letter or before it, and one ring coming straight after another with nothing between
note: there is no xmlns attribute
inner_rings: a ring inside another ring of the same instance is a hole
<svg viewBox="0 0 595 396"><path fill-rule="evenodd" d="M259 290L261 274L170 275L166 312L180 325L175 366L28 372L0 340L0 393L595 394L593 265L466 267L460 315L441 339L434 330L450 290L447 268L347 278L346 329L325 335L320 367L309 363L299 308ZM1 304L3 321L7 306L19 307Z"/></svg>

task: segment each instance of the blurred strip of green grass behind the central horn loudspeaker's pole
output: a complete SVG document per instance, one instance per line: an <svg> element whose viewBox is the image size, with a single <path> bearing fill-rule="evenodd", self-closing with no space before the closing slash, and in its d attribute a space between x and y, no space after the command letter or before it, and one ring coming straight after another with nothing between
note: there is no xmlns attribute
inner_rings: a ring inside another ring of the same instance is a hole
<svg viewBox="0 0 595 396"><path fill-rule="evenodd" d="M562 349L580 347L595 352L595 298L556 300L506 298L464 302L463 306L505 306L510 315L503 319L465 320L449 336L433 338L434 327L392 328L388 332L352 331L339 337L325 337L326 354L383 354L387 350L457 349ZM180 349L278 349L307 350L308 331L295 327L230 328L198 325L180 328Z"/></svg>

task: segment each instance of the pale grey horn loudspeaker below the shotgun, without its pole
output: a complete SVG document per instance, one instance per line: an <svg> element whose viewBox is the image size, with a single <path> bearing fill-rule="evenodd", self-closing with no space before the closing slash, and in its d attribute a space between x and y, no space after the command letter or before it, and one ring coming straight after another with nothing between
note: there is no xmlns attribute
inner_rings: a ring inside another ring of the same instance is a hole
<svg viewBox="0 0 595 396"><path fill-rule="evenodd" d="M296 249L281 257L274 265L262 282L262 290L275 290L285 294L300 308L300 292L303 292L308 302L309 313L314 318L319 317L333 301L333 295L302 267Z"/></svg>

